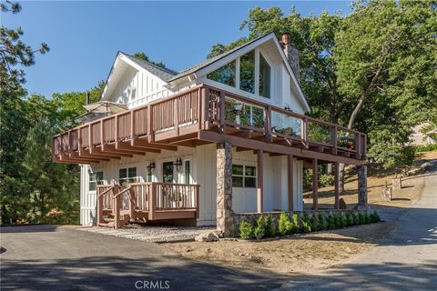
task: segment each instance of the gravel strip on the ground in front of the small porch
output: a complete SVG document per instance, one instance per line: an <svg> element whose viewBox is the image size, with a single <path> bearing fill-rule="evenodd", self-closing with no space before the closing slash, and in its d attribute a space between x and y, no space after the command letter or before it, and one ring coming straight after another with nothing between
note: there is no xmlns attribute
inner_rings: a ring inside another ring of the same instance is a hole
<svg viewBox="0 0 437 291"><path fill-rule="evenodd" d="M129 226L121 229L106 227L79 227L78 230L117 236L145 242L166 243L194 240L194 237L207 231L216 230L215 226Z"/></svg>

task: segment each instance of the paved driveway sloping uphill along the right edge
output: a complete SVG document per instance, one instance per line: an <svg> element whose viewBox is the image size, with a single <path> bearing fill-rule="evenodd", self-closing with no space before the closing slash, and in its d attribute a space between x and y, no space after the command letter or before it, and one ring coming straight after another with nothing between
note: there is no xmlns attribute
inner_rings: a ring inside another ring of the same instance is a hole
<svg viewBox="0 0 437 291"><path fill-rule="evenodd" d="M437 290L436 173L425 175L421 199L401 211L393 233L379 246L348 264L311 276L290 276L281 289Z"/></svg>

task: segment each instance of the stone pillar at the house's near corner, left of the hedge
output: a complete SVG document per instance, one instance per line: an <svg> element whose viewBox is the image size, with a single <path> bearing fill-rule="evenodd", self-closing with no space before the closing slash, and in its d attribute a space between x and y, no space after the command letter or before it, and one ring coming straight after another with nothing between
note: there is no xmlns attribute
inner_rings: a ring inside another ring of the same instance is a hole
<svg viewBox="0 0 437 291"><path fill-rule="evenodd" d="M234 236L232 211L232 146L217 145L217 229L221 236Z"/></svg>

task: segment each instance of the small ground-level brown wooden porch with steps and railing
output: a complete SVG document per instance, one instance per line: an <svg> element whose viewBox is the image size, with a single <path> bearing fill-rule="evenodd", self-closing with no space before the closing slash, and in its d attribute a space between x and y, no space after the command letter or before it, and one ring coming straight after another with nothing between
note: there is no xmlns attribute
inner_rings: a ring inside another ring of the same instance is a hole
<svg viewBox="0 0 437 291"><path fill-rule="evenodd" d="M131 183L97 186L97 225L120 228L127 222L198 218L198 185Z"/></svg>

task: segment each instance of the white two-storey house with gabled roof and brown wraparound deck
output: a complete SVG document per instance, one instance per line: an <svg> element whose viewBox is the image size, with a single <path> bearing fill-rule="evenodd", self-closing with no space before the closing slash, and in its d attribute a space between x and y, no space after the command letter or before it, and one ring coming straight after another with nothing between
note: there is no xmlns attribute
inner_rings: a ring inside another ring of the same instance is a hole
<svg viewBox="0 0 437 291"><path fill-rule="evenodd" d="M55 162L81 165L81 224L302 211L303 167L362 166L365 135L305 115L297 75L288 34L181 72L119 52L101 102L128 110L53 139Z"/></svg>

